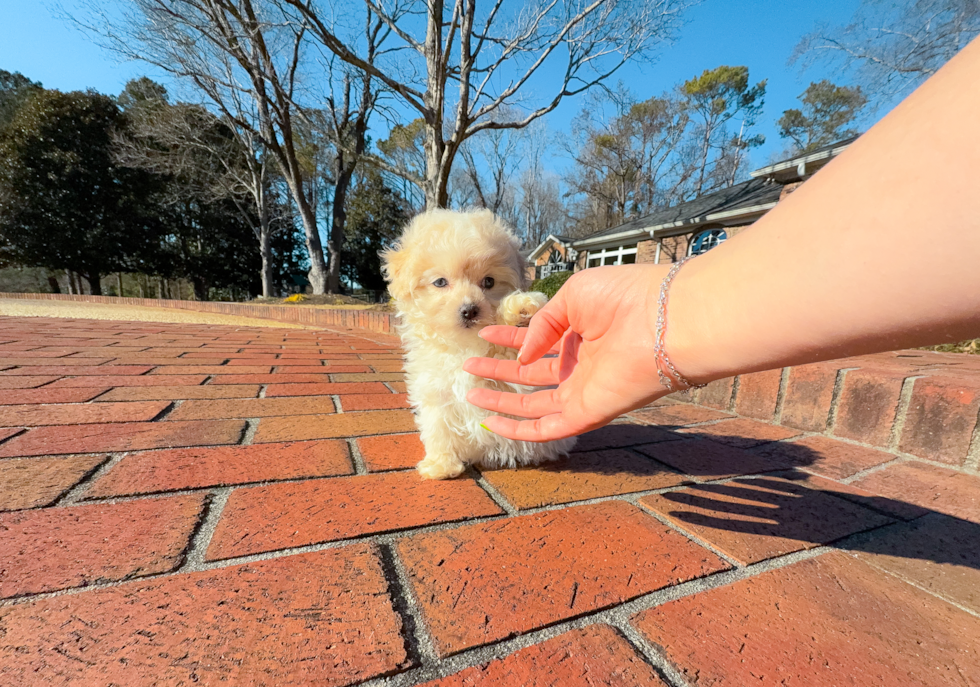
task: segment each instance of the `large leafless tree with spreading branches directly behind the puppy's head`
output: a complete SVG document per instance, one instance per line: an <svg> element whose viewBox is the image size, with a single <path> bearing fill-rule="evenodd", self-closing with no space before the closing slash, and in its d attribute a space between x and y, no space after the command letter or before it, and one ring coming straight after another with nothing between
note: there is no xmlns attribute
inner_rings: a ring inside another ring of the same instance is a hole
<svg viewBox="0 0 980 687"><path fill-rule="evenodd" d="M445 207L449 175L466 139L519 129L566 97L602 84L647 54L676 28L687 0L276 0L289 6L320 43L397 94L425 131L427 207ZM400 44L370 63L363 47L330 19L372 12ZM528 105L534 88L547 95ZM521 114L508 117L504 107ZM378 161L383 165L384 161ZM397 171L397 170L390 170Z"/></svg>

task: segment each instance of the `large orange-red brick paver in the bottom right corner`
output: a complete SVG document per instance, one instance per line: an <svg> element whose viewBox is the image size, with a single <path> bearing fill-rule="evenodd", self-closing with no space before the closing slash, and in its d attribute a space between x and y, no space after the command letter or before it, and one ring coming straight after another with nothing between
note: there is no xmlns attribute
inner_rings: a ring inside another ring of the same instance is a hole
<svg viewBox="0 0 980 687"><path fill-rule="evenodd" d="M980 619L839 553L634 622L701 684L945 687L980 676Z"/></svg>

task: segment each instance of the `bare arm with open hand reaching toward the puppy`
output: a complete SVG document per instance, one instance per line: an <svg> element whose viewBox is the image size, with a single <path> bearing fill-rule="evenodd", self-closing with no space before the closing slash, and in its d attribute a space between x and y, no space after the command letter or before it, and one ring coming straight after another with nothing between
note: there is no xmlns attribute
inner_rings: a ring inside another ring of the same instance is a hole
<svg viewBox="0 0 980 687"><path fill-rule="evenodd" d="M684 267L666 349L695 383L980 335L980 39L752 228ZM666 393L652 359L667 267L578 273L524 332L521 361L473 374L533 385L474 390L520 417L492 431L544 441L601 426ZM557 359L539 358L567 331Z"/></svg>

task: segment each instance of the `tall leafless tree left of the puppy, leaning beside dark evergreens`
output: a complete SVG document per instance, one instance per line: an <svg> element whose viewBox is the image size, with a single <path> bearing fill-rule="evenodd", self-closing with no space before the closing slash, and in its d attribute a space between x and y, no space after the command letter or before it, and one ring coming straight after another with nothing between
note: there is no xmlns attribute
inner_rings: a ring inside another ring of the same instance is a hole
<svg viewBox="0 0 980 687"><path fill-rule="evenodd" d="M302 221L313 291L325 293L316 205L305 193L296 146L305 26L266 0L131 0L121 18L95 0L87 4L88 18L78 21L104 45L192 83L224 118L257 137Z"/></svg>

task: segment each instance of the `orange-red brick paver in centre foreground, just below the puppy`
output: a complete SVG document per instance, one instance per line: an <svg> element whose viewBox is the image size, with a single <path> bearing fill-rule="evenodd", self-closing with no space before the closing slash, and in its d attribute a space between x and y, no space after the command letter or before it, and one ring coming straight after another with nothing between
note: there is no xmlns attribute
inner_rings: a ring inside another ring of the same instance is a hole
<svg viewBox="0 0 980 687"><path fill-rule="evenodd" d="M416 535L398 549L443 656L727 567L622 502Z"/></svg>

